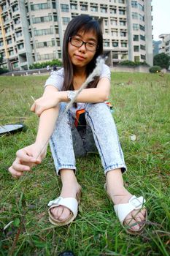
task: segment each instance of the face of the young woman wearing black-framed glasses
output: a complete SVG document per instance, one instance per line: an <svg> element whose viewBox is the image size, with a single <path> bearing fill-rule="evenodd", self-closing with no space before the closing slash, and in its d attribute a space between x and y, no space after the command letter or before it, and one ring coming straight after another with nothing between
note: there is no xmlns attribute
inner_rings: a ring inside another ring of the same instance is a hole
<svg viewBox="0 0 170 256"><path fill-rule="evenodd" d="M83 33L82 31L78 32L75 36L77 39L82 39L84 42L91 42L97 45L97 37L93 31L88 33ZM95 56L96 51L90 51L86 49L86 45L83 44L80 47L76 47L69 42L68 44L68 53L69 58L72 61L72 64L76 67L85 67Z"/></svg>

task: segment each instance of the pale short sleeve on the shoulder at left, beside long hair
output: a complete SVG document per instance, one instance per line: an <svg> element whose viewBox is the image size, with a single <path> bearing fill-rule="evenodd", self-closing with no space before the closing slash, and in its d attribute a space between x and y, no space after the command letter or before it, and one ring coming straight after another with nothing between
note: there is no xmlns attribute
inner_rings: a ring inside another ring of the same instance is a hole
<svg viewBox="0 0 170 256"><path fill-rule="evenodd" d="M58 71L53 71L50 74L50 77L47 78L45 82L46 86L55 86L58 91L62 91L63 89L63 69L59 69Z"/></svg>

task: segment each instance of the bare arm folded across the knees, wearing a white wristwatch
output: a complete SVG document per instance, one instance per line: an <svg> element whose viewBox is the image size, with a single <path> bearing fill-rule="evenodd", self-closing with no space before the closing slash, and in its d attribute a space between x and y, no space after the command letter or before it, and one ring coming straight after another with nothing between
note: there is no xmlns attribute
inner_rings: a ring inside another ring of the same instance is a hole
<svg viewBox="0 0 170 256"><path fill-rule="evenodd" d="M31 111L34 111L38 116L43 111L49 108L55 108L58 102L69 102L67 98L68 91L56 91L54 86L47 86L51 93L49 95L43 95L41 98L36 99L34 105L31 107ZM110 81L108 78L101 78L96 88L84 89L78 94L75 102L104 102L109 97Z"/></svg>

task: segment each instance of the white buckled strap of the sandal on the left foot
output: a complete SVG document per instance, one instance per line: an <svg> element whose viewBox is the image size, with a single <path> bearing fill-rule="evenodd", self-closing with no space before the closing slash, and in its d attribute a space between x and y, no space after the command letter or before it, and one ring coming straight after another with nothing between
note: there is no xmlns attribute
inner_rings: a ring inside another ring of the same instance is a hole
<svg viewBox="0 0 170 256"><path fill-rule="evenodd" d="M78 211L78 202L74 197L58 197L54 200L51 200L47 206L50 206L49 210L53 207L65 206L66 208L69 208L70 211L72 211L73 215L77 215Z"/></svg>

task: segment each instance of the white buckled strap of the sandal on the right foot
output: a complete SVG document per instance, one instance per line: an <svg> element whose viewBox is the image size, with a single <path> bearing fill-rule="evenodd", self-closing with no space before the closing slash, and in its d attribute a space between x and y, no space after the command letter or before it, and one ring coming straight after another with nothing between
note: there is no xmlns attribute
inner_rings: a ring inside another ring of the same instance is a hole
<svg viewBox="0 0 170 256"><path fill-rule="evenodd" d="M115 205L115 213L120 222L123 224L125 217L127 217L127 215L131 213L131 211L143 208L145 202L146 200L144 199L144 197L136 197L135 195L133 195L128 203L120 203Z"/></svg>

